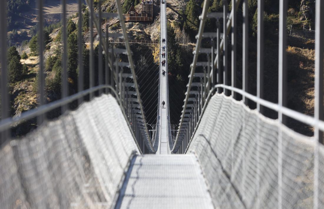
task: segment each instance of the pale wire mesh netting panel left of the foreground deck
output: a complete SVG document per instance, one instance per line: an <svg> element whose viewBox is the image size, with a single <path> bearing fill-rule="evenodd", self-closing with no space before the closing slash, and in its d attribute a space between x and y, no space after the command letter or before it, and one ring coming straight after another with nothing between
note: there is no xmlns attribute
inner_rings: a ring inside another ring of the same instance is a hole
<svg viewBox="0 0 324 209"><path fill-rule="evenodd" d="M0 150L1 208L107 208L138 148L102 95Z"/></svg>

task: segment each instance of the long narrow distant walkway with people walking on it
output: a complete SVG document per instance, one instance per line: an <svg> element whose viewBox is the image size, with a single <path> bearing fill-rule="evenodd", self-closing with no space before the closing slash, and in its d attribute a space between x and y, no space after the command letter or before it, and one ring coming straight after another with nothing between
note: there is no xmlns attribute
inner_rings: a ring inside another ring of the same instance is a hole
<svg viewBox="0 0 324 209"><path fill-rule="evenodd" d="M159 145L156 154L170 154L170 148L168 146L170 137L170 116L169 116L169 104L168 104L168 49L167 49L167 16L166 16L166 4L160 4L160 87L159 87L159 104L158 104L158 116L157 116L157 129L159 134ZM163 39L165 42L163 43ZM165 47L165 50L163 50ZM162 53L165 53L165 57L162 57ZM162 66L162 61L165 60L165 65ZM163 71L165 75L163 76ZM165 102L162 105L162 102Z"/></svg>

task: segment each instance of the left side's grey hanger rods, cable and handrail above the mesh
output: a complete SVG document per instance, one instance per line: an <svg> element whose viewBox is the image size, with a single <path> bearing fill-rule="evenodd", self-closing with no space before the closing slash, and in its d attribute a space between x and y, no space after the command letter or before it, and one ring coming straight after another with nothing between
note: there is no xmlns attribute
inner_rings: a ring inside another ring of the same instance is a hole
<svg viewBox="0 0 324 209"><path fill-rule="evenodd" d="M93 36L90 35L89 44L89 70L85 72L84 69L84 41L82 33L82 21L83 18L78 18L78 31L77 31L77 92L74 94L69 93L69 72L68 72L68 60L67 60L67 35L66 35L66 1L62 1L62 42L60 42L62 48L62 76L61 76L61 99L54 102L45 103L45 71L44 71L44 21L43 21L43 4L42 1L38 2L38 31L39 31L39 83L38 83L38 95L39 106L36 109L23 112L21 115L12 118L10 117L9 109L9 97L8 97L8 68L7 64L7 37L4 32L1 34L1 121L0 131L1 143L10 140L10 129L15 125L37 117L37 125L41 125L46 121L46 113L49 111L60 111L64 114L69 109L71 103L73 108L76 108L85 99L91 100L95 95L112 94L120 104L122 111L124 112L125 119L129 122L129 128L136 138L137 143L146 145L149 152L155 152L151 145L150 134L147 129L145 115L143 111L142 101L140 97L139 87L137 84L137 78L134 70L132 52L128 43L128 36L124 25L124 17L122 13L102 13L99 9L96 13L93 6L93 1L86 1L89 9L89 28L90 34L93 34L93 29L97 29L98 33L98 62L94 60L94 45ZM6 1L2 1L1 4L1 27L6 31ZM101 6L101 1L98 1L98 6ZM117 8L121 7L120 2L116 1ZM78 1L78 11L82 14L82 1ZM119 11L120 12L120 11ZM103 32L101 19L106 18L118 18L120 20L122 33L109 33L106 25L106 30ZM107 41L109 37L123 38L125 42L125 49L114 48L112 44ZM120 61L121 60L121 61ZM95 62L98 64L95 69ZM76 71L76 69L75 69ZM87 78L85 76L88 76ZM87 81L88 83L85 83ZM85 89L87 88L87 89ZM76 104L76 105L75 105ZM142 148L143 149L143 148ZM146 151L147 151L146 150ZM144 152L145 150L143 150Z"/></svg>

